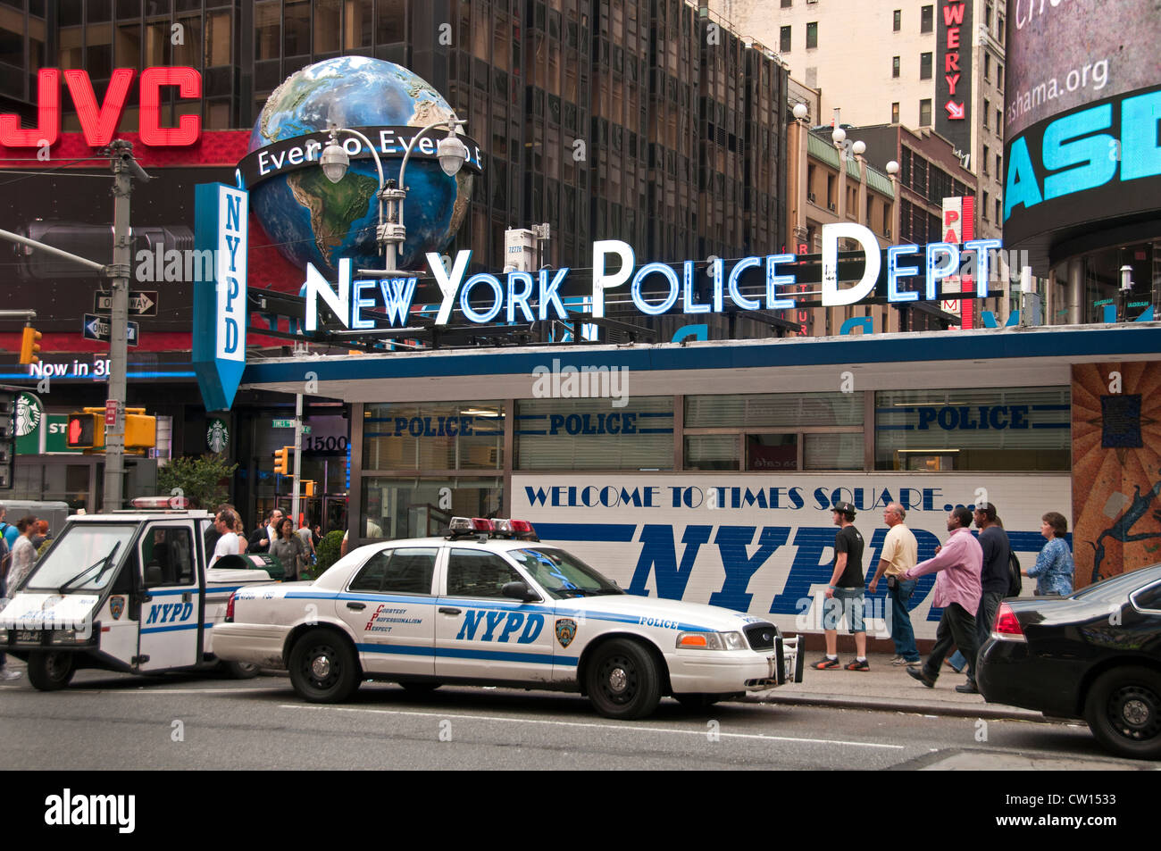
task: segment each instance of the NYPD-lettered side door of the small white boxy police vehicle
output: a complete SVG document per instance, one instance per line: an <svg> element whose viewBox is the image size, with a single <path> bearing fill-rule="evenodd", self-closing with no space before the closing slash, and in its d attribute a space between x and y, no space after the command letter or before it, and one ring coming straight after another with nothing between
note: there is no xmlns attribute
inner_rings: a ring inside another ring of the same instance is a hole
<svg viewBox="0 0 1161 851"><path fill-rule="evenodd" d="M145 525L137 541L145 594L137 637L142 671L187 668L202 658L202 589L192 520Z"/></svg>

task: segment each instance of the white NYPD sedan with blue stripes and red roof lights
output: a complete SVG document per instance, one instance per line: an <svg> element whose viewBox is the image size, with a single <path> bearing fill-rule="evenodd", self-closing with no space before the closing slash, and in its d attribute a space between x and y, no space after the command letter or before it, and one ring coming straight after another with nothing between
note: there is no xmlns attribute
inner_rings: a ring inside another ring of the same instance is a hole
<svg viewBox="0 0 1161 851"><path fill-rule="evenodd" d="M239 589L223 659L286 668L316 702L363 679L579 691L608 717L663 695L706 706L801 681L798 639L727 608L627 594L519 520L454 518L446 538L376 543L313 582Z"/></svg>

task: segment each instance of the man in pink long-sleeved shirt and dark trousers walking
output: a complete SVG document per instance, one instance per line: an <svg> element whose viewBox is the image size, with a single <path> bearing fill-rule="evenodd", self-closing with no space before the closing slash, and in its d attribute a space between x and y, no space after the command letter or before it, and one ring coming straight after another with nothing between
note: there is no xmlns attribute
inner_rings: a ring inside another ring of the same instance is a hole
<svg viewBox="0 0 1161 851"><path fill-rule="evenodd" d="M972 512L953 509L947 514L947 543L936 551L935 558L920 562L903 574L906 579L917 579L924 574L939 571L936 577L933 604L943 608L936 646L922 669L908 668L907 672L928 688L935 688L939 666L954 644L967 659L967 681L956 686L957 692L979 694L975 686L975 611L980 606L980 571L983 549L971 533Z"/></svg>

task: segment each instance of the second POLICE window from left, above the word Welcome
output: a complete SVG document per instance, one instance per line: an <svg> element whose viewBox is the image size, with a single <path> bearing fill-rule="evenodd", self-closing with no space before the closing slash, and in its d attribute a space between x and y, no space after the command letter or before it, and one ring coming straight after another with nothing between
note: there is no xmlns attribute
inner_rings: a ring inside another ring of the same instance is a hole
<svg viewBox="0 0 1161 851"><path fill-rule="evenodd" d="M518 469L673 469L672 396L519 399L515 410Z"/></svg>

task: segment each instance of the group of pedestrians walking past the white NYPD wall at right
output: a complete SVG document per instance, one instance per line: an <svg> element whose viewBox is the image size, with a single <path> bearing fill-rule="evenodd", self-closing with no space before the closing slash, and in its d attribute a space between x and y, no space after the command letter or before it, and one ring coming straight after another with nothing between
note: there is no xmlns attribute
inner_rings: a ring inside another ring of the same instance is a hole
<svg viewBox="0 0 1161 851"><path fill-rule="evenodd" d="M849 671L868 671L866 656L866 627L864 625L863 536L854 528L854 506L838 503L832 511L839 527L835 534L835 561L830 585L823 606L823 632L827 654L814 663L816 670L843 666L838 661L838 625L845 618L854 635L854 659L845 665ZM907 670L929 688L939 678L946 664L957 673L966 670L967 679L956 691L978 694L975 683L976 654L987 641L1000 601L1016 596L1019 576L1037 580L1037 594L1070 594L1073 592L1072 551L1065 535L1068 521L1050 511L1041 519L1040 534L1047 542L1037 556L1036 564L1021 570L1012 555L1008 533L990 503L980 503L974 511L962 506L947 514L947 540L936 547L933 557L918 561L918 545L907 528L907 510L899 503L884 509L887 536L884 540L879 564L866 585L872 594L879 579L886 577L890 599L890 637L895 644L892 664ZM971 533L972 524L979 535ZM936 629L936 643L926 662L920 657L915 643L908 603L920 577L936 574L932 604L943 610ZM954 654L952 650L954 649Z"/></svg>

